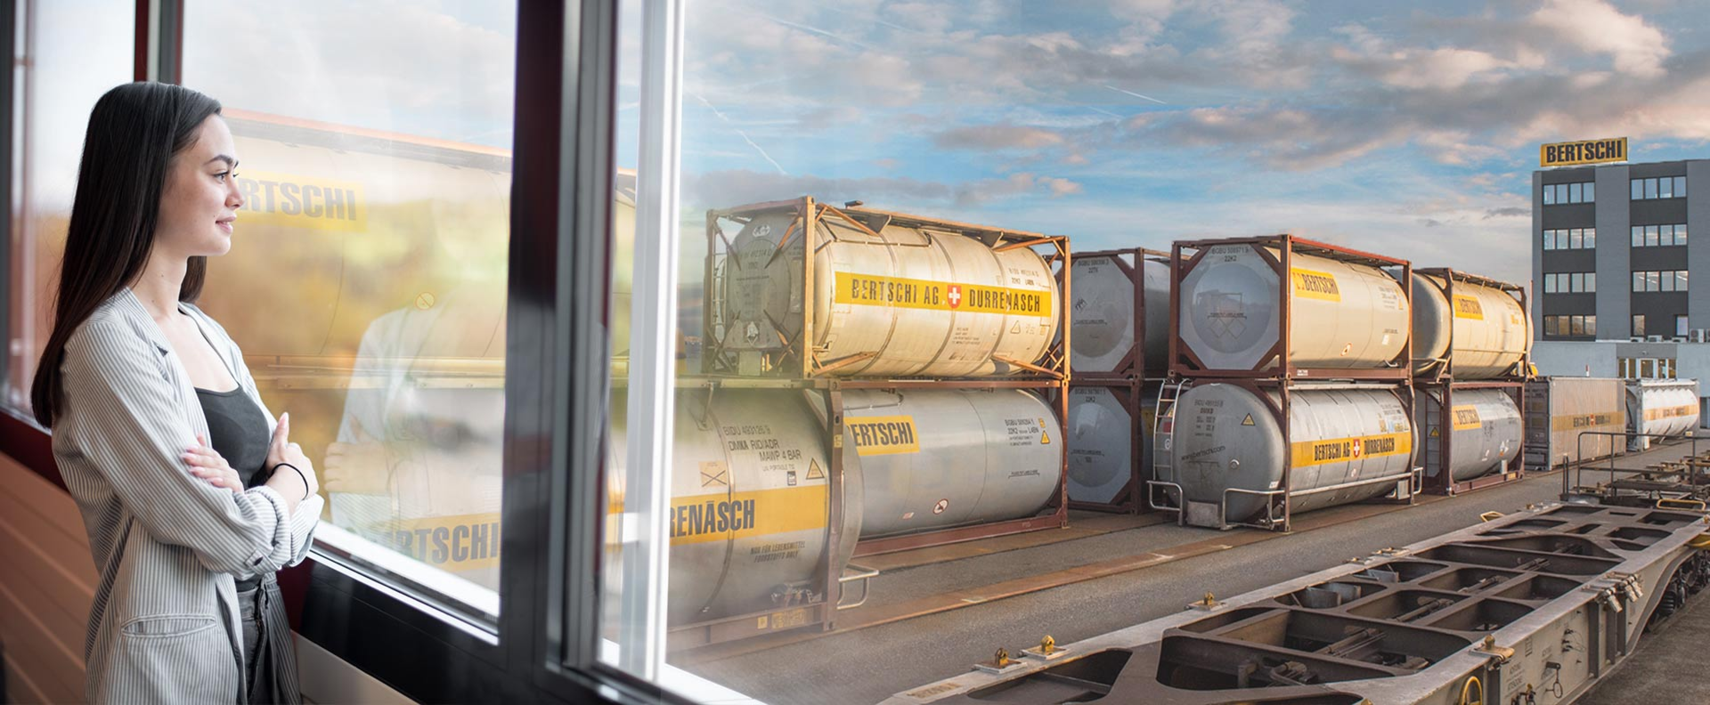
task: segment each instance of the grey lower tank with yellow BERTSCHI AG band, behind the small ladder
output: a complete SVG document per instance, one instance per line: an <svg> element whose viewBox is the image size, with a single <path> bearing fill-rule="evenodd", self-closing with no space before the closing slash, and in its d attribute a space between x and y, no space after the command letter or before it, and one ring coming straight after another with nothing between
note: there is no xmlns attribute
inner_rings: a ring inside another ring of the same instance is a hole
<svg viewBox="0 0 1710 705"><path fill-rule="evenodd" d="M1176 400L1171 465L1194 525L1264 518L1289 471L1291 512L1389 495L1412 462L1412 424L1390 390L1289 392L1289 435L1269 404L1231 383L1190 387ZM1229 491L1233 489L1233 491ZM1219 517L1221 515L1221 517ZM1272 517L1281 518L1281 517Z"/></svg>

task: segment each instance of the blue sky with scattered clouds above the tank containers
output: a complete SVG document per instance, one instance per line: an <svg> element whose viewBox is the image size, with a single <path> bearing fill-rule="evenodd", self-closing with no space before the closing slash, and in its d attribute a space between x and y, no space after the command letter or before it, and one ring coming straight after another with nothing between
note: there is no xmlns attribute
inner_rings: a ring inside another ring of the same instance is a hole
<svg viewBox="0 0 1710 705"><path fill-rule="evenodd" d="M1525 282L1541 142L1710 139L1698 2L687 7L689 214L862 198L1077 250L1289 231Z"/></svg>

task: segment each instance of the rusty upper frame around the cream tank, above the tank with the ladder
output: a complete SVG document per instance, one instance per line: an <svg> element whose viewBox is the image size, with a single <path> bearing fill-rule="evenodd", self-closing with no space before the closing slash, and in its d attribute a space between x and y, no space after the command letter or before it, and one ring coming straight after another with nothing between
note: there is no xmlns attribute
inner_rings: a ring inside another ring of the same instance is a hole
<svg viewBox="0 0 1710 705"><path fill-rule="evenodd" d="M1204 260L1206 252L1218 245L1248 245L1259 257L1262 257L1271 269L1277 274L1277 301L1281 301L1277 315L1277 342L1271 346L1265 354L1253 363L1250 370L1218 370L1207 368L1199 356L1187 349L1182 341L1182 282L1187 274L1194 270ZM1277 248L1281 257L1276 257L1269 248ZM1192 252L1192 255L1183 260L1183 250ZM1293 269L1293 255L1300 252L1303 255L1315 255L1339 262L1363 264L1378 269L1399 267L1402 299L1407 301L1407 339L1402 342L1400 351L1395 358L1385 363L1385 368L1373 370L1344 370L1344 368L1301 368L1289 359L1289 351L1293 349L1293 310L1294 310L1294 287L1291 286L1293 277L1289 270ZM1394 257L1375 255L1370 252L1353 250L1341 245L1320 243L1313 240L1296 238L1293 234L1267 234L1255 238L1221 238L1221 240L1178 240L1170 246L1170 376L1187 376L1187 378L1221 378L1221 380L1351 380L1351 382L1402 382L1412 380L1412 264L1407 260L1397 260ZM1271 364L1274 368L1267 368Z"/></svg>

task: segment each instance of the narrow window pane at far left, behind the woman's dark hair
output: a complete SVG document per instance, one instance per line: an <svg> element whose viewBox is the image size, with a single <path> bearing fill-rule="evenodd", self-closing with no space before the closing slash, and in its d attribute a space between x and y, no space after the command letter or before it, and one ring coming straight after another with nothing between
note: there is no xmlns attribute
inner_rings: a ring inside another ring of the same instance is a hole
<svg viewBox="0 0 1710 705"><path fill-rule="evenodd" d="M7 277L10 370L5 375L5 404L26 412L36 361L53 330L53 286L65 252L89 110L108 89L132 79L137 3L34 2L29 9L34 17L19 50L24 58L15 63L22 74L22 106L14 157L22 169L15 171L17 212Z"/></svg>

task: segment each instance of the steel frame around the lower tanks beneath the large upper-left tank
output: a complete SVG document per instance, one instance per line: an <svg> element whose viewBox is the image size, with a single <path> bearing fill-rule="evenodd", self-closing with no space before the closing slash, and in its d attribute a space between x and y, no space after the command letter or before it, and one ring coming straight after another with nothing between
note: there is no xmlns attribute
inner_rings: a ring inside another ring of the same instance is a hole
<svg viewBox="0 0 1710 705"><path fill-rule="evenodd" d="M826 431L828 448L826 467L826 549L814 570L811 585L799 590L797 597L773 609L749 614L735 614L718 619L698 621L670 628L670 650L696 649L722 642L759 637L780 630L819 628L831 631L836 628L836 613L860 607L867 601L869 580L877 575L874 570L860 568L853 563L843 565L843 558L855 560L881 553L908 551L917 548L944 546L963 541L990 539L997 536L1023 534L1041 529L1064 529L1069 525L1069 469L1067 453L1058 467L1057 493L1047 505L1048 512L1033 517L1011 518L1004 522L973 524L927 530L918 534L887 536L869 541L857 541L850 556L838 556L843 542L843 512L848 510L845 498L845 453L853 452L853 443L845 438L843 390L850 388L1029 388L1038 390L1048 400L1055 399L1057 433L1067 443L1069 423L1064 406L1067 397L1060 394L1065 380L780 380L752 376L711 376L679 378L677 388L705 388L708 397L703 404L711 404L711 395L720 388L776 388L800 390L804 395L817 399L809 406L823 407L826 414L819 418ZM1052 395L1057 390L1058 394ZM858 508L855 508L858 512ZM845 602L845 585L860 584L860 595L853 602Z"/></svg>

